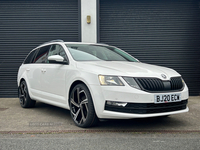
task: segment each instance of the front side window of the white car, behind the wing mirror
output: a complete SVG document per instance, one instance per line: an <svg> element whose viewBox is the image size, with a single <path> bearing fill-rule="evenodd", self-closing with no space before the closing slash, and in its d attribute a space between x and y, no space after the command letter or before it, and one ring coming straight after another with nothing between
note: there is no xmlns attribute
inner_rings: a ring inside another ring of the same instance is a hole
<svg viewBox="0 0 200 150"><path fill-rule="evenodd" d="M49 50L48 57L52 56L52 55L60 55L64 58L65 61L67 61L67 55L66 55L65 50L63 49L63 47L61 45L55 44L55 45L51 46L51 48Z"/></svg>

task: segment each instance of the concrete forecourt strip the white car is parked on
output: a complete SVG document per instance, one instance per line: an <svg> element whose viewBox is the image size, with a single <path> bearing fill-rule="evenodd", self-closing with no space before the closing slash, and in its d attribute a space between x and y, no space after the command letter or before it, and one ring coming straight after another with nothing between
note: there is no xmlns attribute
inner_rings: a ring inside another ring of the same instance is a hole
<svg viewBox="0 0 200 150"><path fill-rule="evenodd" d="M69 110L37 102L34 108L21 108L18 98L0 99L0 133L71 132L198 132L200 96L190 97L189 112L169 117L129 120L102 120L95 127L75 126Z"/></svg>

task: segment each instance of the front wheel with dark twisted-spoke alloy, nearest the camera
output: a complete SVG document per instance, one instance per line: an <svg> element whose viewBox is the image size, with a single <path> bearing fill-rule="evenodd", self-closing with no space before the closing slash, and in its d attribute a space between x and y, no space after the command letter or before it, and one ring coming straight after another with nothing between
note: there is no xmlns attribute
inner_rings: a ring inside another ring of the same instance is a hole
<svg viewBox="0 0 200 150"><path fill-rule="evenodd" d="M78 127L87 128L98 123L91 94L84 84L73 88L69 104L71 117Z"/></svg>

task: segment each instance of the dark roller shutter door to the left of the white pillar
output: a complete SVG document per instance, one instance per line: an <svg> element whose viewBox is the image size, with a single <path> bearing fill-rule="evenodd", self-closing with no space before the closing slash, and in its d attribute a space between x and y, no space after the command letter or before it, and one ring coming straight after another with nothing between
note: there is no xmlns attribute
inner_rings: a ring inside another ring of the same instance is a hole
<svg viewBox="0 0 200 150"><path fill-rule="evenodd" d="M17 71L30 50L79 41L78 0L0 0L0 97L17 97Z"/></svg>

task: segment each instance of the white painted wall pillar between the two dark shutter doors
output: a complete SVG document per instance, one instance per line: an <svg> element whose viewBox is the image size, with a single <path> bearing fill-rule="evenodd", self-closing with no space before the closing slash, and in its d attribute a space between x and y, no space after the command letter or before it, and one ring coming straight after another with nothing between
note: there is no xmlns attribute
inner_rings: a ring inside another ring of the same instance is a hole
<svg viewBox="0 0 200 150"><path fill-rule="evenodd" d="M81 0L81 41L97 43L97 9L96 0ZM87 24L87 15L91 23Z"/></svg>

